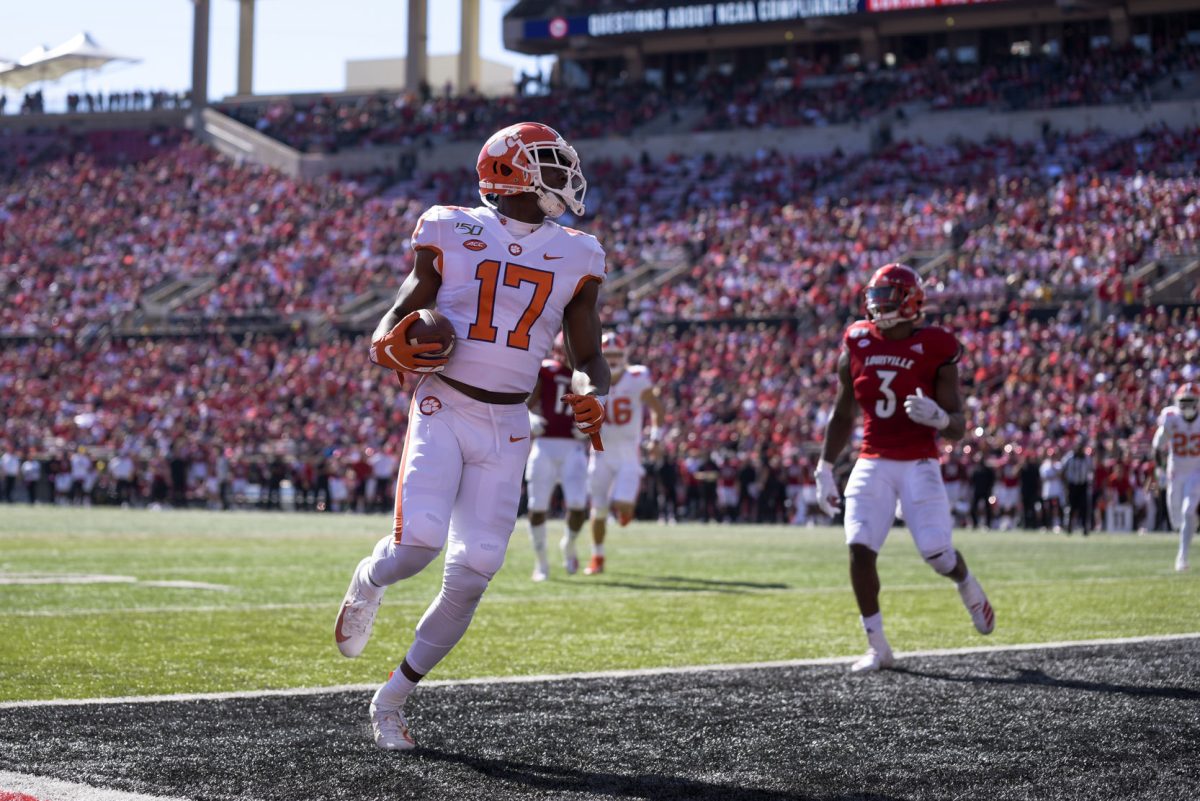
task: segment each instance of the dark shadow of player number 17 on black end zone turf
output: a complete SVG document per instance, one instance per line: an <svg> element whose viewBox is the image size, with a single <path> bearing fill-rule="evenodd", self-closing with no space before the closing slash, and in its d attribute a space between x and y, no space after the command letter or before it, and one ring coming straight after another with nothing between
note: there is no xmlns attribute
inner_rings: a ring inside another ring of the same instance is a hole
<svg viewBox="0 0 1200 801"><path fill-rule="evenodd" d="M425 759L457 763L491 779L524 784L532 790L586 793L612 797L686 799L688 801L898 801L881 795L803 795L780 790L758 790L730 784L710 784L678 776L593 773L574 767L534 765L508 759L486 759L437 748L420 748Z"/></svg>

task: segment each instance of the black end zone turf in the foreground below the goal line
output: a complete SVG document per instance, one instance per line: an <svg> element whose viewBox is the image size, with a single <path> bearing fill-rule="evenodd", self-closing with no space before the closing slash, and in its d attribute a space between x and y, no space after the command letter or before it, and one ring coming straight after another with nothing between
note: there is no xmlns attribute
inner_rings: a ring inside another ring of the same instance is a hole
<svg viewBox="0 0 1200 801"><path fill-rule="evenodd" d="M0 769L227 799L1186 799L1200 639L365 693L0 710Z"/></svg>

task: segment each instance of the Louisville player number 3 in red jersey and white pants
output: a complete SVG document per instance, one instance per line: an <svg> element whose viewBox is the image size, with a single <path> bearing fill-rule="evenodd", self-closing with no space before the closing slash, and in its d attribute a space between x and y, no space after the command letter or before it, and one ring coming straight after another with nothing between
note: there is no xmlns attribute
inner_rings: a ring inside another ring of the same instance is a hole
<svg viewBox="0 0 1200 801"><path fill-rule="evenodd" d="M866 320L848 329L838 359L838 398L817 463L817 500L828 514L839 506L833 463L863 410L863 447L846 483L846 542L866 655L851 670L893 664L880 612L876 558L888 537L896 501L922 558L959 588L980 634L996 619L979 582L950 540L950 505L937 462L937 434L958 440L966 430L959 397L961 347L946 329L922 326L925 290L902 264L880 267L866 285Z"/></svg>

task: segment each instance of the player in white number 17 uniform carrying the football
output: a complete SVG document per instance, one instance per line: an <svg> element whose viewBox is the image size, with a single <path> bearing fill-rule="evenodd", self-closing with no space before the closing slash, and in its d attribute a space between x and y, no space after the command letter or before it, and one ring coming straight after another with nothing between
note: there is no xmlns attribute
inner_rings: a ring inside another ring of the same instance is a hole
<svg viewBox="0 0 1200 801"><path fill-rule="evenodd" d="M416 624L403 662L371 700L376 745L415 747L403 707L458 643L504 561L529 456L526 401L554 336L565 333L575 424L598 433L608 393L596 297L604 248L551 222L583 213L580 159L552 128L521 122L484 144L476 163L484 206L432 206L416 223L416 263L379 321L371 360L421 373L400 462L392 532L359 562L334 628L344 656L362 652L384 590L446 548L442 591ZM457 335L452 356L407 336L419 309L437 307ZM449 546L448 546L449 543Z"/></svg>

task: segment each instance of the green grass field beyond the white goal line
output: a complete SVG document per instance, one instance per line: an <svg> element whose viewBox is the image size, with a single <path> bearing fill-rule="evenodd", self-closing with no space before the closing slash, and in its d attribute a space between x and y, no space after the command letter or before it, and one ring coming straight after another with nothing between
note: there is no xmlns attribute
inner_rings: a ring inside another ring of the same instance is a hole
<svg viewBox="0 0 1200 801"><path fill-rule="evenodd" d="M392 586L359 660L332 622L383 516L0 507L0 701L383 681L440 562ZM551 522L557 542L560 522ZM1169 535L960 532L997 628L979 637L907 532L880 559L900 651L1200 631L1200 577ZM581 553L583 553L581 550ZM610 526L608 571L504 570L436 679L846 656L864 648L840 530Z"/></svg>

